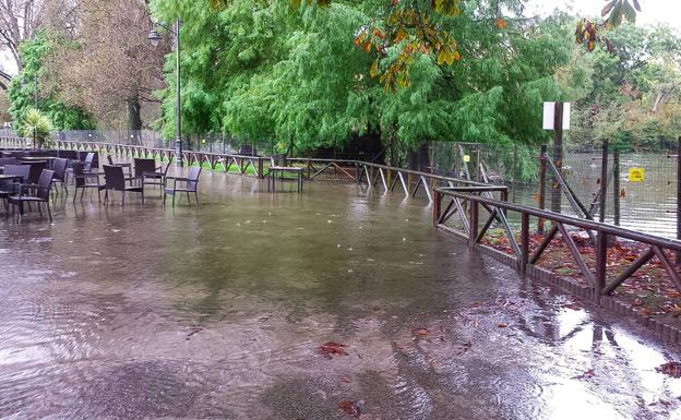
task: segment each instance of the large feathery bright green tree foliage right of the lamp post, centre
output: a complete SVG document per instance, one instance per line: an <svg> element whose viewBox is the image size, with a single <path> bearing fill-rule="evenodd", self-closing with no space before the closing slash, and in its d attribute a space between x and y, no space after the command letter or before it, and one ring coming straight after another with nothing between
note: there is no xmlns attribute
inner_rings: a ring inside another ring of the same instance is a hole
<svg viewBox="0 0 681 420"><path fill-rule="evenodd" d="M441 65L431 51L415 51L410 83L386 92L372 75L401 59L402 45L385 48L378 63L355 45L382 16L385 1L291 8L288 1L230 0L217 11L208 3L152 2L160 20L183 21L184 131L267 139L298 151L369 134L402 148L427 141L543 142L540 105L560 97L553 73L571 58L570 28L557 36L552 22L528 26L512 16L502 25L498 8L483 0L442 2L459 7L456 15L432 19L456 39L461 57ZM513 13L523 1L503 3ZM166 136L175 130L174 64L169 55L171 87L158 93Z"/></svg>

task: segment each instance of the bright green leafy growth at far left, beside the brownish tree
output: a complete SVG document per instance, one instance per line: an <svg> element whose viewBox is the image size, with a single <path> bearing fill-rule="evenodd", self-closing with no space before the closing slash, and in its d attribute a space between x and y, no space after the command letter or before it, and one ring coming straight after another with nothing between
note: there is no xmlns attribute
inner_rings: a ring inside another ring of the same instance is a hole
<svg viewBox="0 0 681 420"><path fill-rule="evenodd" d="M67 106L59 100L56 87L45 85L49 77L49 69L45 67L46 57L50 52L50 39L44 32L38 32L33 39L20 46L23 68L12 80L9 89L10 115L16 132L23 131L24 116L31 108L35 108L35 93L39 91L38 109L40 109L58 130L89 130L94 129L93 119L80 108ZM36 85L37 83L37 85Z"/></svg>

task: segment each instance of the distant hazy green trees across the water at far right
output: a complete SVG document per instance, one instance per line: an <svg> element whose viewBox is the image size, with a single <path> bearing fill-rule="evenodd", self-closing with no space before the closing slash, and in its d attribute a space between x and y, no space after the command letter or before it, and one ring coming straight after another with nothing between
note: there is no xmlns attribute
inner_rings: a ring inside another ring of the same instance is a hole
<svg viewBox="0 0 681 420"><path fill-rule="evenodd" d="M625 148L665 147L681 132L679 34L666 26L622 23L609 33L609 39L611 52L575 51L563 71L593 74L590 83L578 85L574 77L558 77L575 100L570 141L593 146L608 139Z"/></svg>

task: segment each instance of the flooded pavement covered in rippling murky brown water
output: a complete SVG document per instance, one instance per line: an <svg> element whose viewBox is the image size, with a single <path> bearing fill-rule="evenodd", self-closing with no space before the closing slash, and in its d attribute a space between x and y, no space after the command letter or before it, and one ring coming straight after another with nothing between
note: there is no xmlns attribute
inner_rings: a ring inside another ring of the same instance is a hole
<svg viewBox="0 0 681 420"><path fill-rule="evenodd" d="M435 232L421 201L202 188L0 225L0 418L681 419L655 370L674 349Z"/></svg>

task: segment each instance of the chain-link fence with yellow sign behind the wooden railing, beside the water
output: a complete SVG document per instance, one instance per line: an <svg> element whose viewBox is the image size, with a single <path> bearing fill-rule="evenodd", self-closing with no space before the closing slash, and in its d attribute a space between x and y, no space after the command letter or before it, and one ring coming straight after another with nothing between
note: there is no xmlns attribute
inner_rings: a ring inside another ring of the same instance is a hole
<svg viewBox="0 0 681 420"><path fill-rule="evenodd" d="M547 149L551 156L552 147ZM510 189L509 200L539 206L540 146L434 142L429 145L429 152L431 168L437 173L503 183ZM602 149L565 145L560 163L563 178L574 196L598 219ZM606 180L606 221L676 238L677 170L676 151L633 152L611 145ZM560 189L548 167L545 208L551 208L552 191ZM573 208L565 194L561 195L562 213L583 215L580 208Z"/></svg>

